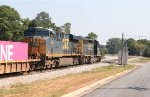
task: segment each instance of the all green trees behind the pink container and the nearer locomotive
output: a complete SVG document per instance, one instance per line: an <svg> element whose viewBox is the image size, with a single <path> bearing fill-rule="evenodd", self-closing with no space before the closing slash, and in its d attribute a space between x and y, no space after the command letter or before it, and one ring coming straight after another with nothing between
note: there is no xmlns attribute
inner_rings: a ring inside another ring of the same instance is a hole
<svg viewBox="0 0 150 97"><path fill-rule="evenodd" d="M0 40L19 41L24 35L24 30L28 27L51 28L57 33L70 33L71 23L65 23L58 27L45 11L38 13L33 20L29 20L29 18L21 19L14 8L6 5L0 6Z"/></svg>

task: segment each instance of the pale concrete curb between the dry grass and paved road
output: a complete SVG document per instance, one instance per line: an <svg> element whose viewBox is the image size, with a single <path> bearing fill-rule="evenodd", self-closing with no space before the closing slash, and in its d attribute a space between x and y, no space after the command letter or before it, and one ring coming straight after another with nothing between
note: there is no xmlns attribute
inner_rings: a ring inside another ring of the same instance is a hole
<svg viewBox="0 0 150 97"><path fill-rule="evenodd" d="M121 73L117 73L117 74L115 74L115 75L109 76L109 77L107 77L107 78L104 78L104 79L102 79L102 80L99 80L99 81L97 81L97 82L95 82L95 83L92 83L92 84L90 84L90 85L88 85L88 86L85 86L85 87L83 87L83 88L80 88L80 89L78 89L78 90L75 90L75 91L73 91L73 92L71 92L71 93L68 93L68 94L66 94L66 95L63 95L63 96L61 96L61 97L81 97L81 96L83 96L83 95L85 95L85 94L87 94L87 93L90 93L91 91L95 90L95 89L98 88L98 87L101 87L101 86L103 86L103 85L105 85L105 84L107 84L107 83L109 83L109 82L111 82L111 81L113 81L113 80L115 80L115 79L117 79L117 78L123 76L123 75L126 75L126 74L128 74L128 73L130 73L130 72L136 70L137 68L138 68L138 66L136 66L136 67L134 67L134 68L132 68L132 69L123 71L123 72L121 72Z"/></svg>

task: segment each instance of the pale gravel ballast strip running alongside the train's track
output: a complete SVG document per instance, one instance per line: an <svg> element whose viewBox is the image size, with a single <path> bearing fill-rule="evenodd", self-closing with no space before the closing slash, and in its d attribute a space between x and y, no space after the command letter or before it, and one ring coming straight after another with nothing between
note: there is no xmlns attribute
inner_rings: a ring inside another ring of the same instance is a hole
<svg viewBox="0 0 150 97"><path fill-rule="evenodd" d="M35 73L29 75L21 75L21 76L14 76L9 78L0 78L0 88L8 88L14 86L16 84L26 84L32 83L39 80L46 80L46 79L53 79L56 77L64 76L71 73L82 73L85 71L90 71L93 68L101 67L101 66L108 66L107 63L96 63L91 65L80 65L76 67L69 67L60 70L52 70L46 71L43 73Z"/></svg>

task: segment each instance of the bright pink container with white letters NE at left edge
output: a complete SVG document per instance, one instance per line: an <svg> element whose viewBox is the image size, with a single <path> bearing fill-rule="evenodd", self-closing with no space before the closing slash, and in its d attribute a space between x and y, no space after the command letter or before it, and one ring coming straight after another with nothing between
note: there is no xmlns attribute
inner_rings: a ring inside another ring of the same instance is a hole
<svg viewBox="0 0 150 97"><path fill-rule="evenodd" d="M0 60L27 60L28 43L0 41Z"/></svg>

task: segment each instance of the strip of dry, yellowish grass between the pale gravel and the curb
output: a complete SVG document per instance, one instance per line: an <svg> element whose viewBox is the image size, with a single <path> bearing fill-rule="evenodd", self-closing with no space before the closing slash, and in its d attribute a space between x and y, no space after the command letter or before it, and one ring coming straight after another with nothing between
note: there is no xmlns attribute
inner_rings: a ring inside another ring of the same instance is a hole
<svg viewBox="0 0 150 97"><path fill-rule="evenodd" d="M94 68L91 71L68 74L63 77L36 81L31 84L18 84L10 89L0 90L0 97L60 97L93 82L133 68L127 65L122 68L117 65Z"/></svg>

